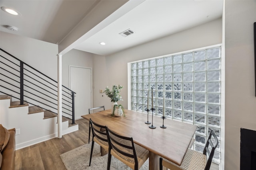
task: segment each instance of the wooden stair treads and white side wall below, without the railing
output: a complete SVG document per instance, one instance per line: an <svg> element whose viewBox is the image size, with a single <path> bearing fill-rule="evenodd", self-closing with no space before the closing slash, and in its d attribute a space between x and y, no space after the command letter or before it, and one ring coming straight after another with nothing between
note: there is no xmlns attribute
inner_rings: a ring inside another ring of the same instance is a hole
<svg viewBox="0 0 256 170"><path fill-rule="evenodd" d="M57 137L57 114L27 102L12 101L12 96L0 95L0 122L7 129L16 128L16 149L21 149ZM62 117L62 134L78 130L78 124Z"/></svg>

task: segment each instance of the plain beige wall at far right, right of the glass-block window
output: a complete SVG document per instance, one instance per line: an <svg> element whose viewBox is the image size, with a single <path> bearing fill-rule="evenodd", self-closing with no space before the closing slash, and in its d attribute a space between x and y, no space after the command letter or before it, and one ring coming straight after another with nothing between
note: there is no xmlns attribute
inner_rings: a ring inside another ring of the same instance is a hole
<svg viewBox="0 0 256 170"><path fill-rule="evenodd" d="M240 169L240 128L256 130L254 22L256 0L225 2L225 170Z"/></svg>

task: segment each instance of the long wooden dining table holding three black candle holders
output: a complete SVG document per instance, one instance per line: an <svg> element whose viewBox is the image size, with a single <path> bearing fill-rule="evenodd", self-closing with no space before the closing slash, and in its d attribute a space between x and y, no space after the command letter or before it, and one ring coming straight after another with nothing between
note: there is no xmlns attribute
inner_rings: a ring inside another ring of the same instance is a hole
<svg viewBox="0 0 256 170"><path fill-rule="evenodd" d="M149 170L159 169L159 158L163 157L178 165L186 154L186 151L192 141L196 131L196 125L164 119L166 128L161 128L163 119L153 115L153 125L155 129L149 128L152 124L146 124L145 121L152 123L152 114L149 117L145 113L137 111L124 110L125 117L116 117L111 115L111 109L82 115L83 118L94 121L100 125L106 125L112 131L119 135L132 137L134 143L148 149Z"/></svg>

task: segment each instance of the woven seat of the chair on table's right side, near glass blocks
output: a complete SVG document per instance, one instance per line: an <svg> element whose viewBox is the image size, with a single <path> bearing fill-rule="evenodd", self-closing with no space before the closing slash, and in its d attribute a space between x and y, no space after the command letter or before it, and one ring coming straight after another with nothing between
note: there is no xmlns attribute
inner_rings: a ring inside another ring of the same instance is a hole
<svg viewBox="0 0 256 170"><path fill-rule="evenodd" d="M204 170L206 161L206 155L196 150L188 149L180 166L165 158L163 158L162 165L171 170Z"/></svg>

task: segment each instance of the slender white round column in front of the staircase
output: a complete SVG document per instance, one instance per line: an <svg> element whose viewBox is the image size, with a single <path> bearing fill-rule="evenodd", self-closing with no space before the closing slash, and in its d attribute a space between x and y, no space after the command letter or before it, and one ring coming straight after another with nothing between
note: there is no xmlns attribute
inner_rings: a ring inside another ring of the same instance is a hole
<svg viewBox="0 0 256 170"><path fill-rule="evenodd" d="M62 138L62 55L58 54L58 138Z"/></svg>

